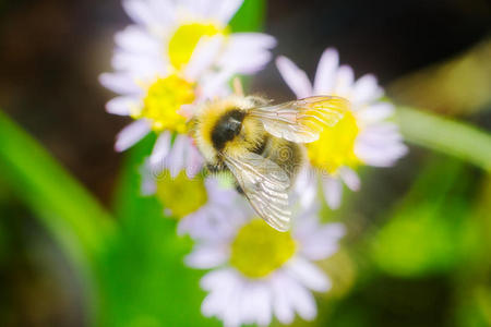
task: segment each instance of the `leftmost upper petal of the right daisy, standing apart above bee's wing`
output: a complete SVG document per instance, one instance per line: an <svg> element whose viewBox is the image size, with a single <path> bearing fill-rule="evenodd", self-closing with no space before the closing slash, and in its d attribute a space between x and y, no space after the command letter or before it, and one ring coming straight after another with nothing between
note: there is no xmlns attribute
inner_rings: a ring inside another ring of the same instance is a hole
<svg viewBox="0 0 491 327"><path fill-rule="evenodd" d="M276 66L297 98L306 98L312 95L312 85L306 72L300 70L291 60L286 57L276 59Z"/></svg>

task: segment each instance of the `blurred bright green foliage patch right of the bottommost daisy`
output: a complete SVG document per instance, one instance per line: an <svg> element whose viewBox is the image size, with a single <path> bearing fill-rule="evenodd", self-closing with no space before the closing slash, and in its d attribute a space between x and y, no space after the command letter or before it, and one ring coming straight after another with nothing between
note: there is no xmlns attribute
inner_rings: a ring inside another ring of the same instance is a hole
<svg viewBox="0 0 491 327"><path fill-rule="evenodd" d="M464 168L440 159L420 174L375 237L373 255L383 270L400 277L438 274L472 253L478 233L468 219L469 175Z"/></svg>

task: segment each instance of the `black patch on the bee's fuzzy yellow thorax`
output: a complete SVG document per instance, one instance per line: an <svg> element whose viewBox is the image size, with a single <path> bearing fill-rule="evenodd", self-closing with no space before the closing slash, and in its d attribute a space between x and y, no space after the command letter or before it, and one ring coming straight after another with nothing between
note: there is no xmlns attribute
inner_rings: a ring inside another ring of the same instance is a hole
<svg viewBox="0 0 491 327"><path fill-rule="evenodd" d="M212 143L216 150L223 150L227 142L240 134L244 117L246 112L240 109L232 109L220 117L212 129Z"/></svg>

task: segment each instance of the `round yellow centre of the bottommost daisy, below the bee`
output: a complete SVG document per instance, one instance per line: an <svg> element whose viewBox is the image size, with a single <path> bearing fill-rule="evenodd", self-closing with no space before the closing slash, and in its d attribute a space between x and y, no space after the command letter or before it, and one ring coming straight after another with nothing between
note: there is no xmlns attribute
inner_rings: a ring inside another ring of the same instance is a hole
<svg viewBox="0 0 491 327"><path fill-rule="evenodd" d="M244 225L231 244L230 265L244 276L261 278L282 267L296 244L289 232L278 232L260 218Z"/></svg>

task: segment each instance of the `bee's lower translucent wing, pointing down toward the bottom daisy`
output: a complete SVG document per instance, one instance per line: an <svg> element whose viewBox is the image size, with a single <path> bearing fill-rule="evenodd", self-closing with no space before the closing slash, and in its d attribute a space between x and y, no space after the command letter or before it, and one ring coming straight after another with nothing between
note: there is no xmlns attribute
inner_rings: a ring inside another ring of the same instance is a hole
<svg viewBox="0 0 491 327"><path fill-rule="evenodd" d="M261 218L271 227L287 231L291 216L287 173L275 162L253 153L244 153L239 158L225 155L225 164Z"/></svg>

